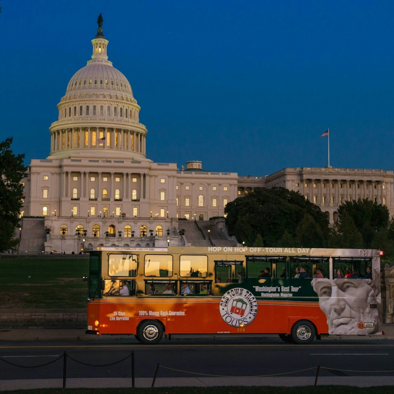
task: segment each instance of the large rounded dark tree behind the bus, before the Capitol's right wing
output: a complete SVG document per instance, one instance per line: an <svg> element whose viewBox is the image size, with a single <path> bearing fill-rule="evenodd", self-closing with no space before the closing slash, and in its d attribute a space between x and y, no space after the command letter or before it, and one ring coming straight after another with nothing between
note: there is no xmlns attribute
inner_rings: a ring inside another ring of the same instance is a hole
<svg viewBox="0 0 394 394"><path fill-rule="evenodd" d="M263 246L283 246L285 232L288 233L286 243L295 239L297 226L305 214L314 219L325 242L328 238L329 222L320 208L298 192L285 188L256 188L228 203L225 213L229 234L247 245L253 245L260 234Z"/></svg>

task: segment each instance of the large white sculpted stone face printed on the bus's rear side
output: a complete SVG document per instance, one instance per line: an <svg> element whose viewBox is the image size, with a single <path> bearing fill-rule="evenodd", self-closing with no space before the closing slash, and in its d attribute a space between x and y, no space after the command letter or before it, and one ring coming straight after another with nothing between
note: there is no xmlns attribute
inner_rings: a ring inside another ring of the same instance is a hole
<svg viewBox="0 0 394 394"><path fill-rule="evenodd" d="M311 284L327 316L329 334L378 332L380 296L378 300L372 279L313 279Z"/></svg>

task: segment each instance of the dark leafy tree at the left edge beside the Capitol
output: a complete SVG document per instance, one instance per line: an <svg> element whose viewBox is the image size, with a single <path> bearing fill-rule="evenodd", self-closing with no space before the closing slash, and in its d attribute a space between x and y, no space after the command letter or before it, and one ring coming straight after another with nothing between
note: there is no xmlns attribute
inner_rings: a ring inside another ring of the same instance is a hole
<svg viewBox="0 0 394 394"><path fill-rule="evenodd" d="M23 165L24 154L11 151L12 138L0 142L0 252L15 249L19 240L15 228L19 225L22 208L23 185L20 180L26 176Z"/></svg>

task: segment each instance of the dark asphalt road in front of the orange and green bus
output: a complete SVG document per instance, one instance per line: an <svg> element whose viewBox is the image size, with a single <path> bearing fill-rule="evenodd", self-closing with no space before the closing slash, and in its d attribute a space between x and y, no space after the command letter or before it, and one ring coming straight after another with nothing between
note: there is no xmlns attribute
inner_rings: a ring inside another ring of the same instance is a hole
<svg viewBox="0 0 394 394"><path fill-rule="evenodd" d="M199 376L314 376L319 364L319 376L332 377L333 384L338 376L394 376L393 372L383 372L394 369L394 343L388 340L322 340L310 345L289 345L280 340L163 340L149 346L105 340L3 342L0 380L61 378L64 352L68 356L67 378L131 377L132 351L136 378L153 377L158 363L162 366L158 377L196 376L182 371L202 374ZM32 368L42 364L47 365ZM112 365L101 366L104 364Z"/></svg>

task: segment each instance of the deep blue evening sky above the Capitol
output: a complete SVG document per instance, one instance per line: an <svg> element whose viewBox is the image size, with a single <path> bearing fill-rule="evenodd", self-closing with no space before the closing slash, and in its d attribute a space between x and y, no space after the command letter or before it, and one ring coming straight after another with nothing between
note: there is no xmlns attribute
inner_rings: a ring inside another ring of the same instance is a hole
<svg viewBox="0 0 394 394"><path fill-rule="evenodd" d="M46 158L97 16L155 162L394 169L394 2L0 0L0 139Z"/></svg>

